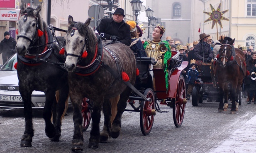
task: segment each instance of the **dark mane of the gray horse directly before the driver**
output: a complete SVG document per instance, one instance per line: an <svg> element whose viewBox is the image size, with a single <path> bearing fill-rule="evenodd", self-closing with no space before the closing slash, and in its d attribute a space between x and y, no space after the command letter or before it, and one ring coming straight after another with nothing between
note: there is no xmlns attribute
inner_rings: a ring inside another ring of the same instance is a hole
<svg viewBox="0 0 256 153"><path fill-rule="evenodd" d="M76 25L75 25L76 24ZM70 34L72 31L72 28L76 27L78 29L78 32L80 35L88 38L88 50L95 50L95 46L97 44L97 38L95 35L95 32L93 31L92 27L90 26L85 26L82 22L74 22L70 24L68 27L67 34Z"/></svg>

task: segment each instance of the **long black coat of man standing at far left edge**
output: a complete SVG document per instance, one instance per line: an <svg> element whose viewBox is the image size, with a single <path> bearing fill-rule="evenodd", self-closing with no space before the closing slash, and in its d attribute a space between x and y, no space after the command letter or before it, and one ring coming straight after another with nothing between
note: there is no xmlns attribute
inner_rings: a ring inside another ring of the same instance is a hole
<svg viewBox="0 0 256 153"><path fill-rule="evenodd" d="M4 38L0 43L0 54L2 54L2 62L5 62L16 53L15 46L17 42L14 38L10 37L9 39Z"/></svg>

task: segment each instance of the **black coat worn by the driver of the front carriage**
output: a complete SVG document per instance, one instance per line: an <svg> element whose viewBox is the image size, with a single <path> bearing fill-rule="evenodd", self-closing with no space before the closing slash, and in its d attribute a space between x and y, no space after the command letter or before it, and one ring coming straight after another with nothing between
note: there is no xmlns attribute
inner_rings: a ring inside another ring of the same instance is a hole
<svg viewBox="0 0 256 153"><path fill-rule="evenodd" d="M99 33L104 33L104 37L110 40L111 36L118 36L120 42L125 45L131 45L132 38L130 33L130 26L124 21L118 27L113 18L104 18L101 20L100 25L97 27Z"/></svg>

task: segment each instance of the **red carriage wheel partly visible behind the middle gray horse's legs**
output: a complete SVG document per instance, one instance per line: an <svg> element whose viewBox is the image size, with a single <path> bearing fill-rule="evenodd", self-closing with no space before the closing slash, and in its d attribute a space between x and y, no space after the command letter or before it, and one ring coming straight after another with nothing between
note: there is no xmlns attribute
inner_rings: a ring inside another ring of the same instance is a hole
<svg viewBox="0 0 256 153"><path fill-rule="evenodd" d="M90 125L91 121L91 114L93 109L90 108L89 104L90 102L86 102L87 98L83 98L83 103L82 103L82 115L83 115L83 131L86 131Z"/></svg>

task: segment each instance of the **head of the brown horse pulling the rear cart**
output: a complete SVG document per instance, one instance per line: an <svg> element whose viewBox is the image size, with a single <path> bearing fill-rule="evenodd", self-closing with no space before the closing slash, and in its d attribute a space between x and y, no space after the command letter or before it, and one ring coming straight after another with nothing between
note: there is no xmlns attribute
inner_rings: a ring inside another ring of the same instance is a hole
<svg viewBox="0 0 256 153"><path fill-rule="evenodd" d="M229 37L225 37L224 39L221 37L222 45L219 49L219 55L217 55L221 67L226 67L228 62L232 62L234 60L234 41L235 39L232 40Z"/></svg>

